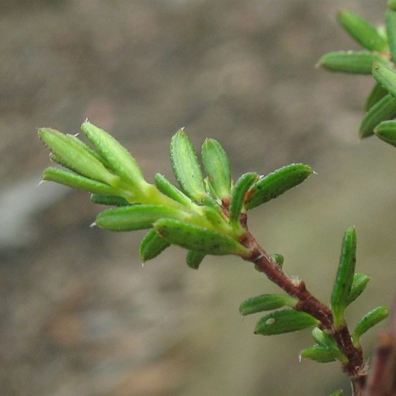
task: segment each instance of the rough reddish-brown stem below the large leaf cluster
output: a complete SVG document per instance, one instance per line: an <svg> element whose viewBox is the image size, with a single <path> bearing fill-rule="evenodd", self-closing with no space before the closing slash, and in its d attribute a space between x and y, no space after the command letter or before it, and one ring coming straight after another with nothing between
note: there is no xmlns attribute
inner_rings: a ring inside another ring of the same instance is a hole
<svg viewBox="0 0 396 396"><path fill-rule="evenodd" d="M355 347L352 344L347 325L335 328L331 309L314 297L306 289L303 281L289 278L248 231L241 242L250 251L249 256L244 258L254 263L259 271L263 272L270 281L282 288L288 295L297 298L298 303L295 309L309 313L318 319L320 321L318 326L333 336L339 349L347 356L348 361L343 364L343 371L347 373L352 382L353 395L362 396L366 380L363 352L360 347Z"/></svg>

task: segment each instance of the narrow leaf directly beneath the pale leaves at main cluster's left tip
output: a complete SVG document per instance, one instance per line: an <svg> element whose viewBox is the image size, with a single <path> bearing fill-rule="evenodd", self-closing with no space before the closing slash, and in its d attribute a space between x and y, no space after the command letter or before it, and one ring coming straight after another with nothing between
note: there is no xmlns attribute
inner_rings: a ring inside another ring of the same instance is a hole
<svg viewBox="0 0 396 396"><path fill-rule="evenodd" d="M90 193L116 195L120 191L109 185L78 175L66 169L49 167L43 172L43 180L63 184Z"/></svg>

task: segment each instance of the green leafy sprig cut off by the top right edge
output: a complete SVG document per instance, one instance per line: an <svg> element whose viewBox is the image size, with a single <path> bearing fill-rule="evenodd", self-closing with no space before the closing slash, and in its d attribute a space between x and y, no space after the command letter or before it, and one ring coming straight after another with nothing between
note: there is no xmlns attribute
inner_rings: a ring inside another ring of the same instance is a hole
<svg viewBox="0 0 396 396"><path fill-rule="evenodd" d="M396 134L387 121L396 117L396 7L388 1L385 33L350 11L338 14L340 25L363 47L363 51L338 51L323 55L318 64L330 71L372 74L376 83L368 95L359 128L361 138L374 133L395 146ZM386 122L384 127L382 123Z"/></svg>

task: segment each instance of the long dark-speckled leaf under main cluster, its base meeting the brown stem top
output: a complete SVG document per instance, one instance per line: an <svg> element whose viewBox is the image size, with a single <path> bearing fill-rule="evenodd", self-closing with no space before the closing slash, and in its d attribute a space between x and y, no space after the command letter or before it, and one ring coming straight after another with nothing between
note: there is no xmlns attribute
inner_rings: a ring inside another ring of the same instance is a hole
<svg viewBox="0 0 396 396"><path fill-rule="evenodd" d="M162 218L154 223L157 233L169 243L205 254L236 254L242 257L249 250L234 238L191 223Z"/></svg>

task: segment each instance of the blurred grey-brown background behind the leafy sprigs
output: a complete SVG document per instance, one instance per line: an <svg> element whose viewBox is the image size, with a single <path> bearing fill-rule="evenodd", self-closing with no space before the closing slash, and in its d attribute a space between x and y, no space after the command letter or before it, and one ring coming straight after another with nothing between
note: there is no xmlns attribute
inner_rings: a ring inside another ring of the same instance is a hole
<svg viewBox="0 0 396 396"><path fill-rule="evenodd" d="M351 327L395 291L394 148L357 130L370 77L315 68L357 49L338 9L375 24L385 0L37 0L0 2L0 394L328 395L338 363L298 361L310 332L266 338L239 303L276 292L251 265L167 249L142 267L144 233L91 229L89 195L40 182L38 127L86 117L172 178L184 126L230 154L235 177L311 165L302 186L251 212L250 229L289 275L328 303L347 227L372 276ZM385 326L381 325L382 327ZM364 336L367 357L376 333Z"/></svg>

